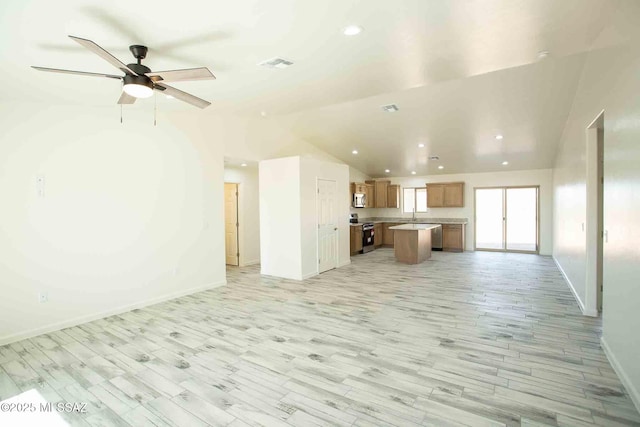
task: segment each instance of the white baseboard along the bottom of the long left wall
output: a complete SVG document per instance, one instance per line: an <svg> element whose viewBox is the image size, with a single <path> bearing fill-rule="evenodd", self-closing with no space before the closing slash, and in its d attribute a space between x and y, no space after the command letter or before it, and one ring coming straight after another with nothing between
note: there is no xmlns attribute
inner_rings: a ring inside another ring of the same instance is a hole
<svg viewBox="0 0 640 427"><path fill-rule="evenodd" d="M83 323L87 323L87 322L92 322L94 320L98 320L98 319L103 319L105 317L109 317L109 316L115 316L117 314L122 314L122 313L126 313L127 311L131 311L131 310L135 310L137 308L143 308L143 307L147 307L150 305L154 305L154 304L159 304L161 302L165 302L168 300L172 300L172 299L176 299L176 298L180 298L182 296L185 295L190 295L190 294L195 294L196 292L202 292L202 291L206 291L209 289L214 289L220 286L224 286L227 284L226 280L217 282L217 283L210 283L207 285L203 285L203 286L197 286L195 288L190 288L187 290L182 290L179 292L173 292L170 294L166 294L166 295L161 295L159 297L156 298L151 298L148 299L146 301L139 301L136 302L134 304L129 304L129 305L125 305L125 306L120 306L117 308L113 308L110 310L105 310L102 311L100 313L94 313L94 314L90 314L88 316L80 316L80 317L75 317L73 319L68 319L68 320L63 320L60 322L56 322L56 323L51 323L49 325L46 326L42 326L39 328L34 328L34 329L29 329L27 331L22 331L22 332L18 332L15 334L11 334L11 335L6 335L4 337L0 337L0 346L1 345L6 345L6 344L10 344L12 342L16 342L16 341L21 341L27 338L32 338L38 335L42 335L42 334L47 334L49 332L55 332L55 331L59 331L61 329L65 329L65 328L71 328L73 326L78 326L81 325Z"/></svg>

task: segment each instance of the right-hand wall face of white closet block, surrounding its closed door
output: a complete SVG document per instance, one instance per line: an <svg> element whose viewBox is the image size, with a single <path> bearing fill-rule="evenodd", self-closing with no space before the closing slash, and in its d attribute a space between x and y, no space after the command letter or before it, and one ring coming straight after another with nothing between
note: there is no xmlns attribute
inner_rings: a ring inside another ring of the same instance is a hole
<svg viewBox="0 0 640 427"><path fill-rule="evenodd" d="M338 267L351 262L349 205L340 201L349 199L349 167L344 164L301 158L300 202L302 215L302 277L318 274L318 208L317 180L336 181L336 215L338 218Z"/></svg>

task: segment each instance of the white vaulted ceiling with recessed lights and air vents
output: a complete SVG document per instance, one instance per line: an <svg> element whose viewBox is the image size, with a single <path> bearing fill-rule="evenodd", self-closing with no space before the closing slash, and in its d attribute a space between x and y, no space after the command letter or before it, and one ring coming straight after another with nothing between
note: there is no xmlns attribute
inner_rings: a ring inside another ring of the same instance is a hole
<svg viewBox="0 0 640 427"><path fill-rule="evenodd" d="M380 176L438 172L426 161L434 154L443 172L501 170L503 160L551 167L585 53L637 38L640 1L4 0L0 20L1 102L115 104L117 81L29 66L117 73L68 34L125 63L130 44L146 44L153 70L207 66L218 77L175 84L213 102L193 114L266 111ZM364 32L342 35L349 24ZM542 50L550 56L538 61ZM256 66L274 56L295 64ZM400 111L385 114L387 103ZM158 105L193 108L163 97Z"/></svg>

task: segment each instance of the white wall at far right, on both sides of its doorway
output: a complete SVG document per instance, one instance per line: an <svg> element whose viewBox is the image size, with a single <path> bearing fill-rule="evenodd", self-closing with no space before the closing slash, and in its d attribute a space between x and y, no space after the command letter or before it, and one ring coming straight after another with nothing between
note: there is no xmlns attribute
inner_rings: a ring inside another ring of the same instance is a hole
<svg viewBox="0 0 640 427"><path fill-rule="evenodd" d="M584 304L586 127L604 109L604 229L609 237L604 244L602 342L640 409L639 76L637 43L595 50L587 58L554 170L553 255Z"/></svg>

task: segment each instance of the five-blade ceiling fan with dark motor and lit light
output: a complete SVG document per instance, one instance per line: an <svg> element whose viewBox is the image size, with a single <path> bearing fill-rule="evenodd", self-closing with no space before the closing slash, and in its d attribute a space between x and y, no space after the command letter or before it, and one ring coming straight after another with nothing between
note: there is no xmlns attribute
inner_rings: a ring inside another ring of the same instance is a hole
<svg viewBox="0 0 640 427"><path fill-rule="evenodd" d="M123 92L120 95L118 104L133 104L138 98L148 98L153 95L153 90L163 92L167 96L195 105L199 108L206 108L211 103L197 96L183 92L179 89L167 85L165 82L182 82L188 80L212 80L216 77L206 67L188 68L183 70L169 70L152 72L149 67L142 65L142 60L147 56L147 47L141 45L129 46L129 50L137 59L135 64L122 63L118 58L98 46L95 42L80 37L69 36L72 40L80 43L91 52L95 53L120 71L124 76L114 74L89 73L86 71L61 70L57 68L45 68L32 66L36 70L49 71L53 73L79 74L81 76L106 77L118 79L123 82Z"/></svg>

